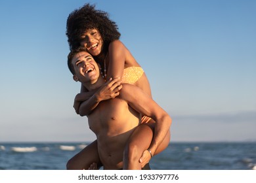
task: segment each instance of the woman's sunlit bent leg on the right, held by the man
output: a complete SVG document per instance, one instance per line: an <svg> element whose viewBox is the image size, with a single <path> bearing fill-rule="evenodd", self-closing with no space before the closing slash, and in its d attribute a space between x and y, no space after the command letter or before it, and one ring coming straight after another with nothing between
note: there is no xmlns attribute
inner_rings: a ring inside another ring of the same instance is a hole
<svg viewBox="0 0 256 183"><path fill-rule="evenodd" d="M139 163L139 159L142 156L144 150L148 149L150 146L153 135L154 135L154 126L156 122L154 120L150 120L148 123L143 123L139 125L131 137L127 142L127 146L125 147L125 151L123 154L123 169L141 169L141 164ZM170 142L170 131L168 131L167 135L163 142L161 142L160 146L156 149L154 155L159 154L167 146Z"/></svg>

